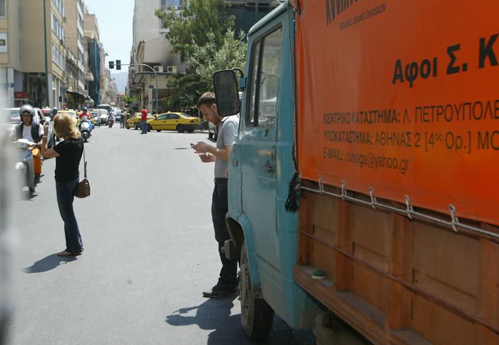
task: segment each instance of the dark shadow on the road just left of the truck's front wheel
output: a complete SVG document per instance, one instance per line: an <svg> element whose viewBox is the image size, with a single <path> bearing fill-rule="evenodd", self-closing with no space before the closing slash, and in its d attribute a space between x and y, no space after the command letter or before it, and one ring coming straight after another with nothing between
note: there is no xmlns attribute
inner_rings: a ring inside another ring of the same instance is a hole
<svg viewBox="0 0 499 345"><path fill-rule="evenodd" d="M240 314L230 314L235 298L207 299L198 306L181 308L166 316L166 322L172 326L197 325L200 329L213 329L207 344L252 344L241 341L247 339L241 328ZM191 316L190 311L195 311L195 315Z"/></svg>

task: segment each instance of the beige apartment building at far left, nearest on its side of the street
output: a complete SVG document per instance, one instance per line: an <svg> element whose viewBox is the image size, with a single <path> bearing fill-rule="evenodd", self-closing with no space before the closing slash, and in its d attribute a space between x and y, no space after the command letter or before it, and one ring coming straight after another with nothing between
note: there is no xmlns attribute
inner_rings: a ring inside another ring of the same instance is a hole
<svg viewBox="0 0 499 345"><path fill-rule="evenodd" d="M9 105L62 105L64 16L63 0L0 0L0 83Z"/></svg>

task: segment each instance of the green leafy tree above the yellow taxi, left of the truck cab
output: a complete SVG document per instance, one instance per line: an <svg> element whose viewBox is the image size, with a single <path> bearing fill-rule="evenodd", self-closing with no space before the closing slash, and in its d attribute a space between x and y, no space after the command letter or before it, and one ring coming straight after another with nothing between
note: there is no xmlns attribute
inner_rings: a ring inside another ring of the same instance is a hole
<svg viewBox="0 0 499 345"><path fill-rule="evenodd" d="M225 0L190 0L179 14L158 10L156 16L169 29L166 38L187 64L168 83L172 94L163 101L168 110L188 108L213 89L212 75L227 68L244 70L247 43L244 34L235 37L234 17L227 15Z"/></svg>

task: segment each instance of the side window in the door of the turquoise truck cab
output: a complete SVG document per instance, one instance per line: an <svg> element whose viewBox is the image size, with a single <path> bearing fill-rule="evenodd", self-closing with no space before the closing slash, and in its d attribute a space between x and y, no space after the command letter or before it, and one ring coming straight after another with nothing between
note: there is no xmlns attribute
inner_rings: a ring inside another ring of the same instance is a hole
<svg viewBox="0 0 499 345"><path fill-rule="evenodd" d="M281 76L282 28L276 29L253 44L250 71L249 126L273 125L277 114Z"/></svg>

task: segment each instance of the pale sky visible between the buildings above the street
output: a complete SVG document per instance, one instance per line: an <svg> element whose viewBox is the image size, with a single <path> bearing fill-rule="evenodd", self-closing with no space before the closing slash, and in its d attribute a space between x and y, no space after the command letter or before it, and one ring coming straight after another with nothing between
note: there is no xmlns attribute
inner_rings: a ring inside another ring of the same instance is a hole
<svg viewBox="0 0 499 345"><path fill-rule="evenodd" d="M96 14L101 34L101 42L108 61L130 62L130 49L133 43L133 6L135 0L84 0L91 14ZM122 72L128 66L122 66ZM119 72L119 71L118 71ZM117 71L111 70L111 73Z"/></svg>

